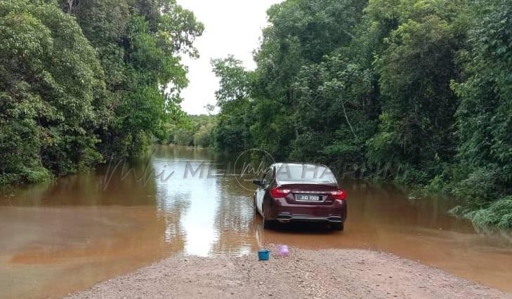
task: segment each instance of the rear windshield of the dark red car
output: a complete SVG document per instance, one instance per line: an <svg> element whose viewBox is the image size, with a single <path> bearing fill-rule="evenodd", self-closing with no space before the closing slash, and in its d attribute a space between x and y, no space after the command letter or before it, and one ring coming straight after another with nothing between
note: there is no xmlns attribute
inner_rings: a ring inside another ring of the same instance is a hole
<svg viewBox="0 0 512 299"><path fill-rule="evenodd" d="M320 165L282 164L276 168L280 182L313 182L336 184L332 171Z"/></svg>

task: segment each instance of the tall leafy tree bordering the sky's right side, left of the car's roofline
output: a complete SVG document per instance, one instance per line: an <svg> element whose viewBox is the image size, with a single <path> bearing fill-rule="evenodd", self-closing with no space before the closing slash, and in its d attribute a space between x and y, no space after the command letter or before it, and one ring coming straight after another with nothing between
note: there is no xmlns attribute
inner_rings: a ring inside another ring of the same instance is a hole
<svg viewBox="0 0 512 299"><path fill-rule="evenodd" d="M284 1L269 9L270 26L263 30L255 54L258 67L251 98L255 100L254 114L263 116L251 126L255 145L282 159L296 150L294 142L306 144L308 136L315 135L300 124L304 116L298 100L299 76L305 76L304 67L321 63L325 55L353 39L365 4L353 0Z"/></svg>

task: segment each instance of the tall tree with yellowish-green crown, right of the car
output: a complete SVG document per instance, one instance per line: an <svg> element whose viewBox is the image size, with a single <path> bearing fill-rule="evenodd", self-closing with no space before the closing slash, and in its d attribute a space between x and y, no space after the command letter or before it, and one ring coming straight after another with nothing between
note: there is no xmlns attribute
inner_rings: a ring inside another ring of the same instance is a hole
<svg viewBox="0 0 512 299"><path fill-rule="evenodd" d="M456 148L457 97L449 82L459 77L454 53L464 35L457 32L452 11L461 4L405 2L387 14L398 26L384 39L386 48L377 60L383 114L379 133L368 142L369 161L400 168L398 180L424 184L442 171Z"/></svg>

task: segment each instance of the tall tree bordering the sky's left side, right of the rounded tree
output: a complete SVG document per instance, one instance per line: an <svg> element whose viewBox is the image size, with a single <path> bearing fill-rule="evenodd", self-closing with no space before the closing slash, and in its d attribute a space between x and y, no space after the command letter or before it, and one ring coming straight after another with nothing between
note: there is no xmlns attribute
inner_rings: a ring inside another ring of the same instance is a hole
<svg viewBox="0 0 512 299"><path fill-rule="evenodd" d="M179 104L188 80L180 54L197 57L193 42L202 23L174 0L81 0L72 14L107 70L114 117L98 130L101 152L136 156L152 136L166 139L167 125L185 119Z"/></svg>

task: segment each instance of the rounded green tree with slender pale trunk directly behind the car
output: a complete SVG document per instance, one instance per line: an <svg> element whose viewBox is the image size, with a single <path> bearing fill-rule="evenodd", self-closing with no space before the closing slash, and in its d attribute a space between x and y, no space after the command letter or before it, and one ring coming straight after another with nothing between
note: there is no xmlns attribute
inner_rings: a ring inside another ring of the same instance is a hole
<svg viewBox="0 0 512 299"><path fill-rule="evenodd" d="M361 167L365 162L361 149L375 129L372 79L344 53L324 59L303 67L294 84L295 117L299 121L290 157L335 166L350 162Z"/></svg>

